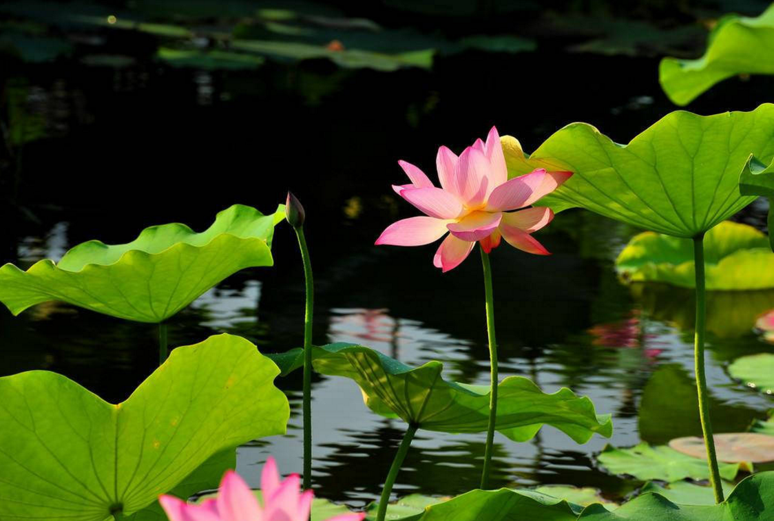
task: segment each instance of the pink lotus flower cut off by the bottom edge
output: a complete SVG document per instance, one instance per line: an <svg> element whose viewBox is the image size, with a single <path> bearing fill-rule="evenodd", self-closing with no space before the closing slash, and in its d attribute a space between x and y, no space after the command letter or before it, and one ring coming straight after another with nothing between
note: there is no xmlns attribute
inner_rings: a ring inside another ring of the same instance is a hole
<svg viewBox="0 0 774 521"><path fill-rule="evenodd" d="M300 491L299 475L279 481L274 458L269 458L261 474L263 506L235 471L223 476L217 499L194 505L171 495L159 503L170 521L308 521L314 492ZM342 514L327 521L361 521L365 513Z"/></svg>

